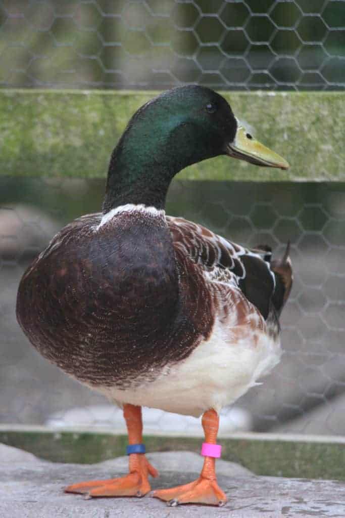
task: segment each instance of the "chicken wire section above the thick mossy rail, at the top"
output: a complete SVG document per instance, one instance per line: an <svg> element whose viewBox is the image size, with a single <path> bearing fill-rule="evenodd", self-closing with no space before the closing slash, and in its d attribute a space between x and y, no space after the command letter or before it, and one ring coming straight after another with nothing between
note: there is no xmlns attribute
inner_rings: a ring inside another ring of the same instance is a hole
<svg viewBox="0 0 345 518"><path fill-rule="evenodd" d="M2 0L2 87L334 90L344 0Z"/></svg>

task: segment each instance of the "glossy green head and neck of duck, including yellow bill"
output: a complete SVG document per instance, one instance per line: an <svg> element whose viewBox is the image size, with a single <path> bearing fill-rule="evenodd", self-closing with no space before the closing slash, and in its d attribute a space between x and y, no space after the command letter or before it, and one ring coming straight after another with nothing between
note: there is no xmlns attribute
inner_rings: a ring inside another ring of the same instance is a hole
<svg viewBox="0 0 345 518"><path fill-rule="evenodd" d="M114 149L103 210L126 203L163 208L177 172L219 155L289 167L245 130L213 90L188 85L164 92L134 113Z"/></svg>

